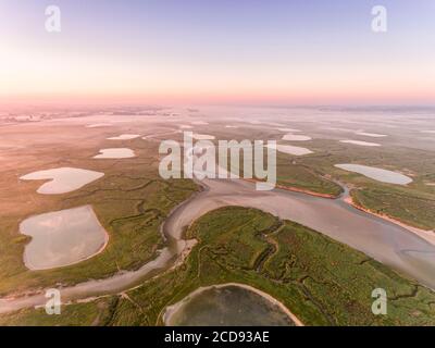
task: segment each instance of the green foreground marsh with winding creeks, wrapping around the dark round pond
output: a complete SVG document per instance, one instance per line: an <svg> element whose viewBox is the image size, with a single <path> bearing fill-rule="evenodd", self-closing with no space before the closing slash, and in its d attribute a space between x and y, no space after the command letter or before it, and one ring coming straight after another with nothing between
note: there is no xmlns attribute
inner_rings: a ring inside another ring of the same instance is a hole
<svg viewBox="0 0 435 348"><path fill-rule="evenodd" d="M162 325L167 306L201 286L246 284L284 303L304 325L434 325L435 294L343 244L256 209L226 207L198 219L185 262L117 296L27 309L0 325ZM387 314L372 312L373 289Z"/></svg>

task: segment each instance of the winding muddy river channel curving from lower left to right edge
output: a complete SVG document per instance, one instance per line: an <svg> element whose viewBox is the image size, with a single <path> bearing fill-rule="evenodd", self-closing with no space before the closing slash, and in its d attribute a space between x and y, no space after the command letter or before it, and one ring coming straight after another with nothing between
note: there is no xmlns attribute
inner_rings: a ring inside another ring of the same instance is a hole
<svg viewBox="0 0 435 348"><path fill-rule="evenodd" d="M136 271L64 287L62 301L117 294L174 266L194 244L182 238L183 228L204 213L225 206L257 208L293 220L435 288L435 246L405 227L349 206L345 197L334 200L281 189L257 191L254 184L241 179L204 179L201 185L204 189L176 207L162 225L167 247L154 260ZM0 299L0 313L46 301L44 294Z"/></svg>

